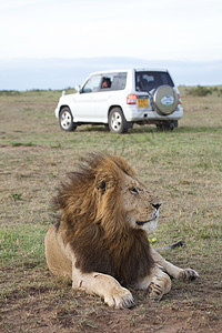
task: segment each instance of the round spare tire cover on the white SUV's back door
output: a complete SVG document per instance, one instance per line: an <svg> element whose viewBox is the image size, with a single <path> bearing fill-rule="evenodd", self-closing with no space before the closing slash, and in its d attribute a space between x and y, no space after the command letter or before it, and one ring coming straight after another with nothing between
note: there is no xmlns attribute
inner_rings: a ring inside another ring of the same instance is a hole
<svg viewBox="0 0 222 333"><path fill-rule="evenodd" d="M160 85L154 91L153 102L158 113L171 114L178 107L178 93L170 85Z"/></svg>

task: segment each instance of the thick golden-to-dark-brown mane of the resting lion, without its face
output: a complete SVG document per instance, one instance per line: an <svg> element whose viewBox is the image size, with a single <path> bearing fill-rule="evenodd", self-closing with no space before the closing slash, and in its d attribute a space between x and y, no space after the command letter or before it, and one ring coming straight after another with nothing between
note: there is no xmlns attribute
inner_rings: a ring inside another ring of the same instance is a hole
<svg viewBox="0 0 222 333"><path fill-rule="evenodd" d="M123 174L134 170L120 157L91 154L58 189L57 224L83 273L100 272L132 285L150 273L153 260L147 233L125 222L120 191ZM103 196L104 195L104 196Z"/></svg>

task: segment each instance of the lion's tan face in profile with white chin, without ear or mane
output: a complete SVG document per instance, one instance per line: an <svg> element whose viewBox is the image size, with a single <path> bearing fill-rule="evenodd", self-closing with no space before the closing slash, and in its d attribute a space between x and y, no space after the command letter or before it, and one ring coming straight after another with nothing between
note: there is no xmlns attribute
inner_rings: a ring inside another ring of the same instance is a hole
<svg viewBox="0 0 222 333"><path fill-rule="evenodd" d="M153 232L158 226L161 202L139 180L129 175L124 175L122 198L130 226L142 229L148 233Z"/></svg>

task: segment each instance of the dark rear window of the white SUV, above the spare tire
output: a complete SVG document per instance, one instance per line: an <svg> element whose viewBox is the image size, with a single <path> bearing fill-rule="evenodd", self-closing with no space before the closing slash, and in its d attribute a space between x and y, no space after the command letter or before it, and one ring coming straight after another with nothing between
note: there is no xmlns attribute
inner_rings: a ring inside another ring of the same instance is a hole
<svg viewBox="0 0 222 333"><path fill-rule="evenodd" d="M168 84L174 87L168 72L154 71L137 71L135 72L135 90L137 91L151 91L160 85Z"/></svg>

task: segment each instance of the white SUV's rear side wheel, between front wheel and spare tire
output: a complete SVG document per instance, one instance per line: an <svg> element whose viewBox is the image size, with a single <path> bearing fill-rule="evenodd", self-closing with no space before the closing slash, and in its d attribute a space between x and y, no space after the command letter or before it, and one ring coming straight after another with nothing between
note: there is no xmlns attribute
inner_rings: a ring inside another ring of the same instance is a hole
<svg viewBox="0 0 222 333"><path fill-rule="evenodd" d="M113 133L125 133L128 124L120 108L113 108L109 114L109 129Z"/></svg>

